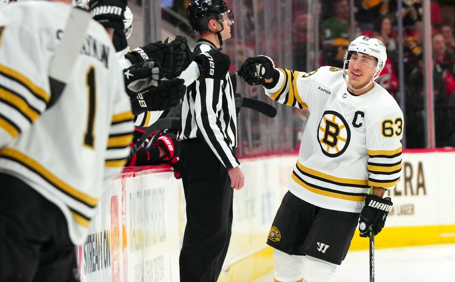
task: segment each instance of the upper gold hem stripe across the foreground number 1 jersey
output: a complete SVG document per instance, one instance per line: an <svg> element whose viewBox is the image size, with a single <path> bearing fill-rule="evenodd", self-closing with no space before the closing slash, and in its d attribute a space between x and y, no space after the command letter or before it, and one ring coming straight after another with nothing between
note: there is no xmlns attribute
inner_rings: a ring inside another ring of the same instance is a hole
<svg viewBox="0 0 455 282"><path fill-rule="evenodd" d="M83 203L84 205L94 208L98 203L98 199L92 196L89 196L81 191L76 190L75 188L68 185L65 181L62 181L60 178L52 174L50 171L41 166L40 163L33 160L32 158L22 154L20 151L17 151L12 148L4 147L0 150L0 158L6 158L11 161L15 161L22 166L25 166L30 171L35 172L45 181L47 181L52 186L56 187L61 192L65 193L67 196Z"/></svg>

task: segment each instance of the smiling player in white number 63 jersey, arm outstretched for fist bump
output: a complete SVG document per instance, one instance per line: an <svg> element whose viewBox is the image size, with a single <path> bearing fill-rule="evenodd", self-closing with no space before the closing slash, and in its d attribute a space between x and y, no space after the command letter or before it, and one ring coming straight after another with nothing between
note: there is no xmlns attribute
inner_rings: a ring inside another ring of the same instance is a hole
<svg viewBox="0 0 455 282"><path fill-rule="evenodd" d="M392 202L383 195L400 177L404 124L394 98L374 82L386 59L381 41L360 36L343 69L276 69L267 56L248 58L239 69L243 81L263 84L273 100L310 111L268 235L275 281L333 281L358 222L362 237L370 226L375 235L384 227Z"/></svg>

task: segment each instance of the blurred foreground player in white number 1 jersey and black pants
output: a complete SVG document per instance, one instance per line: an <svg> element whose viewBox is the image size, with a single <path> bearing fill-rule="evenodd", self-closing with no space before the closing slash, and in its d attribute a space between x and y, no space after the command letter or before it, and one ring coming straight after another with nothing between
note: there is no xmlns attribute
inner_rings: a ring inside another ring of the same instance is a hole
<svg viewBox="0 0 455 282"><path fill-rule="evenodd" d="M74 246L126 162L131 103L106 33L123 26L116 11L126 0L109 5L115 14L107 15L106 29L71 0L0 10L1 282L79 281ZM50 65L61 42L74 38L71 30L81 29L81 21L67 25L79 16L88 26L74 42L74 64L64 65L72 71L58 97Z"/></svg>

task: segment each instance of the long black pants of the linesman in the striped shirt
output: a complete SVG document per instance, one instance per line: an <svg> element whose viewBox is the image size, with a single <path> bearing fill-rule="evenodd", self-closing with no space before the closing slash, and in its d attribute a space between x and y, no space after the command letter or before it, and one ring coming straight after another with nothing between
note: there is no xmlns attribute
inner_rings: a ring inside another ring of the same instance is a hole
<svg viewBox="0 0 455 282"><path fill-rule="evenodd" d="M180 159L187 202L180 281L216 282L231 238L231 179L200 138L182 141Z"/></svg>

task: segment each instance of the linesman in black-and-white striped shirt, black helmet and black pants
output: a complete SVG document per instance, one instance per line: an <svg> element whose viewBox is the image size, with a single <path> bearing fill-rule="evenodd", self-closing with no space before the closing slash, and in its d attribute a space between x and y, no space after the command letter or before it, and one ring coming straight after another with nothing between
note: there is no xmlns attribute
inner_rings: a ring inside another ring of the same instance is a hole
<svg viewBox="0 0 455 282"><path fill-rule="evenodd" d="M200 33L194 55L231 37L233 16L223 0L196 0L187 18ZM180 281L216 282L226 257L233 218L233 189L244 184L234 148L237 119L229 74L188 86L182 101L180 160L187 226L180 252Z"/></svg>

